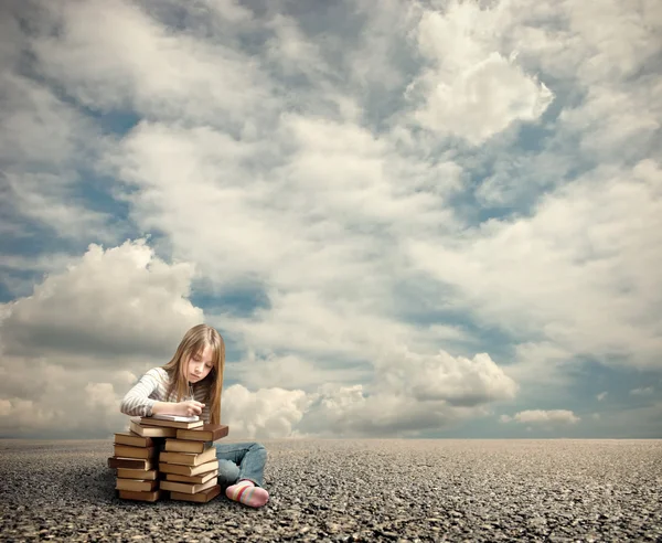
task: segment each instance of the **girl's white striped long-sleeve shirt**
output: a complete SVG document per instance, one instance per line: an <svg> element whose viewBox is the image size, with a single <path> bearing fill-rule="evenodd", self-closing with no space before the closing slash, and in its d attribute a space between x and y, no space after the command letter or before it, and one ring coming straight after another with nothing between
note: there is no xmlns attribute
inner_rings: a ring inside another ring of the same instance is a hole
<svg viewBox="0 0 662 543"><path fill-rule="evenodd" d="M163 368L152 368L140 377L129 392L122 398L119 411L125 415L149 417L152 415L152 407L156 402L177 402L177 393L173 391L166 397L170 379ZM205 423L210 422L210 406L206 402L209 390L207 383L195 383L192 385L193 397L202 402L205 406L202 408L200 418Z"/></svg>

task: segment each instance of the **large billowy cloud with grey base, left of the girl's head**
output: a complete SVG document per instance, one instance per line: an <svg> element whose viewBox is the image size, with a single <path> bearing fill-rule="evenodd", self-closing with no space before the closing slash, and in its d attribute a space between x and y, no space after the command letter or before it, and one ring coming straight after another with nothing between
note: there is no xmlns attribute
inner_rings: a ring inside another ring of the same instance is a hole
<svg viewBox="0 0 662 543"><path fill-rule="evenodd" d="M6 306L3 352L66 353L70 366L105 364L108 355L167 355L203 320L188 300L192 274L188 264L154 257L143 239L109 249L90 245L66 272Z"/></svg>

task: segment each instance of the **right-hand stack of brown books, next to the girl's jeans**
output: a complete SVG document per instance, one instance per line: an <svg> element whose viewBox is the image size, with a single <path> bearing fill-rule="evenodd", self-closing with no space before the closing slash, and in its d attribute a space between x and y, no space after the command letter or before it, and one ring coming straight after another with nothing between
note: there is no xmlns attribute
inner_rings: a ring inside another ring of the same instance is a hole
<svg viewBox="0 0 662 543"><path fill-rule="evenodd" d="M181 424L174 437L166 438L158 469L163 477L160 488L170 491L170 499L206 503L221 493L213 444L227 433L221 424Z"/></svg>

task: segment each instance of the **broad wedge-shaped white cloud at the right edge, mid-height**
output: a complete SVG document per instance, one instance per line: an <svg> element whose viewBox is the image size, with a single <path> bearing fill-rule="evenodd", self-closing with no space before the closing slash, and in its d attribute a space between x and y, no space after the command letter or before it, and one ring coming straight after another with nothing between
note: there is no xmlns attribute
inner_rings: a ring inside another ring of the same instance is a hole
<svg viewBox="0 0 662 543"><path fill-rule="evenodd" d="M528 217L493 220L462 238L410 241L409 254L458 289L458 304L515 337L544 334L570 353L659 368L660 180L650 160L594 172Z"/></svg>

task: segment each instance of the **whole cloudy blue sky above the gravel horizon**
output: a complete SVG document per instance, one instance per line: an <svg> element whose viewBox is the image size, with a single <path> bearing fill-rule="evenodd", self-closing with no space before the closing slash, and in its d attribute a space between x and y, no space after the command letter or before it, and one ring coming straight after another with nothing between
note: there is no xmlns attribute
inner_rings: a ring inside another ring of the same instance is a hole
<svg viewBox="0 0 662 543"><path fill-rule="evenodd" d="M658 0L0 10L0 437L662 437Z"/></svg>

